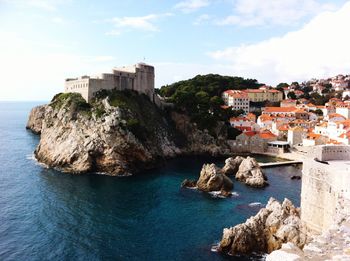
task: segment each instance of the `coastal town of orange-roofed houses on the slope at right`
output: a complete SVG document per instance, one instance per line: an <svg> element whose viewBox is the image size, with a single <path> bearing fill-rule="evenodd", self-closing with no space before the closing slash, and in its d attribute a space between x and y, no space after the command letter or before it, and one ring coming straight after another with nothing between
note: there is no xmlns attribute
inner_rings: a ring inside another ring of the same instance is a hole
<svg viewBox="0 0 350 261"><path fill-rule="evenodd" d="M241 111L230 125L242 133L237 151L280 154L290 148L350 144L350 76L226 90L227 110Z"/></svg>

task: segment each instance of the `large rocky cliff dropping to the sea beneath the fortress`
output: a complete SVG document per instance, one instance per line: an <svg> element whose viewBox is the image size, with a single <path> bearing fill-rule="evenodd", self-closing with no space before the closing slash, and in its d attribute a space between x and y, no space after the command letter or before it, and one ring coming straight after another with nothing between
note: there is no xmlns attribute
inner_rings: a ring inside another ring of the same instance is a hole
<svg viewBox="0 0 350 261"><path fill-rule="evenodd" d="M56 95L33 108L27 128L40 133L39 162L64 172L126 175L184 154L225 155L229 147L190 119L157 108L134 92L102 93L87 104L79 94Z"/></svg>

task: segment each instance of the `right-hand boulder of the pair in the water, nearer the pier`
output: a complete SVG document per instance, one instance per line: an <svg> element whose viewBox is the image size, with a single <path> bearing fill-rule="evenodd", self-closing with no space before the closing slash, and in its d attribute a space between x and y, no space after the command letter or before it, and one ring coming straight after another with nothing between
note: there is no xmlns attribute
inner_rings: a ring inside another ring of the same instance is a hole
<svg viewBox="0 0 350 261"><path fill-rule="evenodd" d="M251 187L265 187L267 178L263 174L259 163L252 157L247 157L239 165L236 179Z"/></svg>

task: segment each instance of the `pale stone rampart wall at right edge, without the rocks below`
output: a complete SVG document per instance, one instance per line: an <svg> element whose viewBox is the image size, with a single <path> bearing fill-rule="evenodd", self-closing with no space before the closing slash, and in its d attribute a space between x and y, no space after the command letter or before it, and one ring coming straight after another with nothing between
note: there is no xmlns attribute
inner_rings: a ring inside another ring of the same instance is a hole
<svg viewBox="0 0 350 261"><path fill-rule="evenodd" d="M335 159L323 164L314 159L303 163L301 219L312 233L327 231L350 213L350 146L316 146L312 155L320 160Z"/></svg>

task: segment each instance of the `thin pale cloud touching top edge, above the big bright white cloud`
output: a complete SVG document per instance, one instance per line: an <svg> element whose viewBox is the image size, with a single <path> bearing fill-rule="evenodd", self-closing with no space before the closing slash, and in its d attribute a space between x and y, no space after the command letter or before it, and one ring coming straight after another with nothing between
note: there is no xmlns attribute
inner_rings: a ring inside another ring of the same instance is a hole
<svg viewBox="0 0 350 261"><path fill-rule="evenodd" d="M237 0L233 14L216 21L216 24L290 25L304 17L334 8L332 4L322 4L317 0Z"/></svg>

